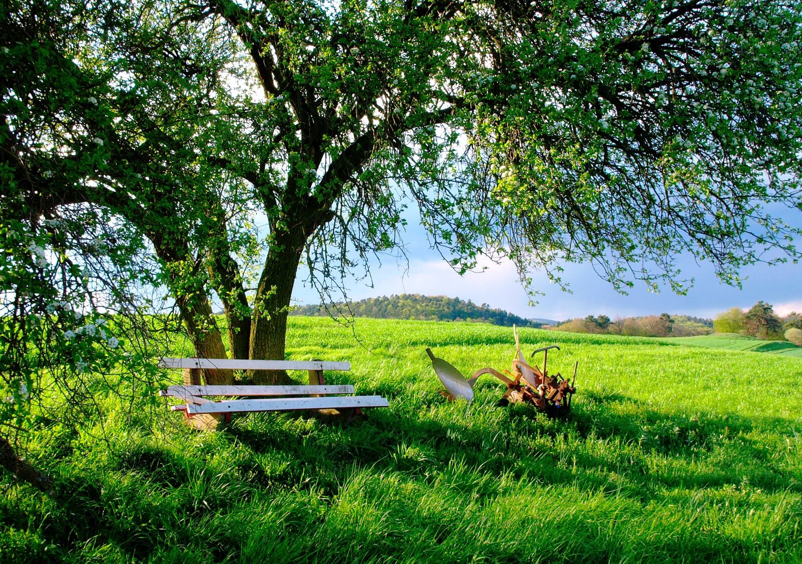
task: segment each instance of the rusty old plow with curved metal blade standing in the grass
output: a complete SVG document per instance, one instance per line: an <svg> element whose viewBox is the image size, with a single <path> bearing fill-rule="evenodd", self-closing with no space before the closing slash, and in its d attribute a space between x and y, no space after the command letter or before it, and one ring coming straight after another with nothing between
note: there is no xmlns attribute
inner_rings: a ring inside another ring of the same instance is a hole
<svg viewBox="0 0 802 564"><path fill-rule="evenodd" d="M431 366L435 369L437 377L446 388L443 394L450 400L464 398L470 402L473 399L473 385L476 380L484 374L491 374L507 386L507 391L499 400L500 405L529 403L537 408L538 411L543 411L552 417L568 415L571 409L571 398L577 391L574 383L577 380L579 362L573 366L573 378L570 383L559 372L550 375L547 369L549 350L560 350L559 346L550 345L536 349L530 355L530 358L532 358L537 353L543 353L543 370L541 371L539 366L532 366L526 362L525 356L520 350L518 332L514 326L512 332L515 335L516 354L512 358L510 370L504 370L506 375L488 366L476 370L471 375L471 378L465 378L455 366L442 358L435 357L431 349L426 349L429 358L431 358Z"/></svg>

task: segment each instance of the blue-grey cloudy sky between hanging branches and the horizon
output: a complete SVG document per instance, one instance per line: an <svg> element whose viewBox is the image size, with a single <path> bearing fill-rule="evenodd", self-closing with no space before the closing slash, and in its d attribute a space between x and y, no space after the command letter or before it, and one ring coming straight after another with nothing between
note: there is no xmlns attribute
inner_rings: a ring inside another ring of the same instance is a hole
<svg viewBox="0 0 802 564"><path fill-rule="evenodd" d="M695 279L694 286L685 296L678 296L665 288L659 293L648 292L646 286L635 281L635 286L624 296L593 272L589 264L569 264L561 274L572 293L549 284L545 273L533 278L533 288L545 295L537 296L537 304L529 305L529 296L509 262L494 264L489 260L480 263L484 272L468 272L460 276L431 250L423 227L410 222L404 234L409 263L386 257L382 264L371 265L373 287L363 281L346 280L351 300L392 294L417 293L428 296L459 297L476 304L507 310L520 317L565 321L573 317L605 314L610 318L658 315L692 315L715 317L727 309L748 309L758 300L774 306L776 313L786 315L802 312L802 264L764 264L743 268L746 277L742 288L721 283L706 264L683 261L683 273ZM293 299L297 304L318 304L317 292L305 287L305 270L302 267L295 282Z"/></svg>

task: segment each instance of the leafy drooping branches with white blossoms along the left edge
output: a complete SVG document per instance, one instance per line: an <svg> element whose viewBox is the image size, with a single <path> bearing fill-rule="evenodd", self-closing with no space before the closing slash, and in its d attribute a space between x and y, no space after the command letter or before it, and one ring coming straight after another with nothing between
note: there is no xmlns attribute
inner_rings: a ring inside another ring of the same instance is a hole
<svg viewBox="0 0 802 564"><path fill-rule="evenodd" d="M115 115L99 102L104 77L76 61L109 12L59 2L3 8L0 465L48 491L52 480L18 456L28 433L79 424L100 393L130 405L152 398L152 358L172 321L148 315L148 304L159 307L148 296L159 265L144 232L86 196L105 191L96 179L109 154L96 132ZM130 181L129 170L115 174Z"/></svg>

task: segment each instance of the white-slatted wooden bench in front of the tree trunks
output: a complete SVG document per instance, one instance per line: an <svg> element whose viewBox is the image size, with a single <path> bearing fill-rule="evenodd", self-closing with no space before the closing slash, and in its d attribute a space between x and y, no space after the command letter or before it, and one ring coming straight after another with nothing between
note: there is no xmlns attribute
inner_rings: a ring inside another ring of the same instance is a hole
<svg viewBox="0 0 802 564"><path fill-rule="evenodd" d="M188 419L193 419L194 427L205 430L217 427L222 420L228 421L232 413L243 411L350 410L353 417L365 407L389 405L387 398L380 395L330 395L354 394L354 386L327 386L323 381L323 370L350 370L350 362L162 358L159 366L184 369L184 385L168 386L160 390L160 395L179 398L184 403L170 409L184 411ZM201 386L201 370L307 370L310 385ZM214 401L205 396L224 399Z"/></svg>

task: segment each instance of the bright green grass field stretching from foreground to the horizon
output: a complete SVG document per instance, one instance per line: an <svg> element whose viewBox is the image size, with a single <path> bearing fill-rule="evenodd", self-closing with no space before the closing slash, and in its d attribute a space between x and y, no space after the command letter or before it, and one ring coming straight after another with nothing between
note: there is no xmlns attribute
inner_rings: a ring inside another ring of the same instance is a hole
<svg viewBox="0 0 802 564"><path fill-rule="evenodd" d="M390 407L196 433L114 399L87 431L34 437L45 497L0 474L2 562L800 562L802 360L647 338L520 331L579 361L573 414L448 403L425 349L508 367L491 325L290 318L290 358ZM302 378L302 375L298 375Z"/></svg>

